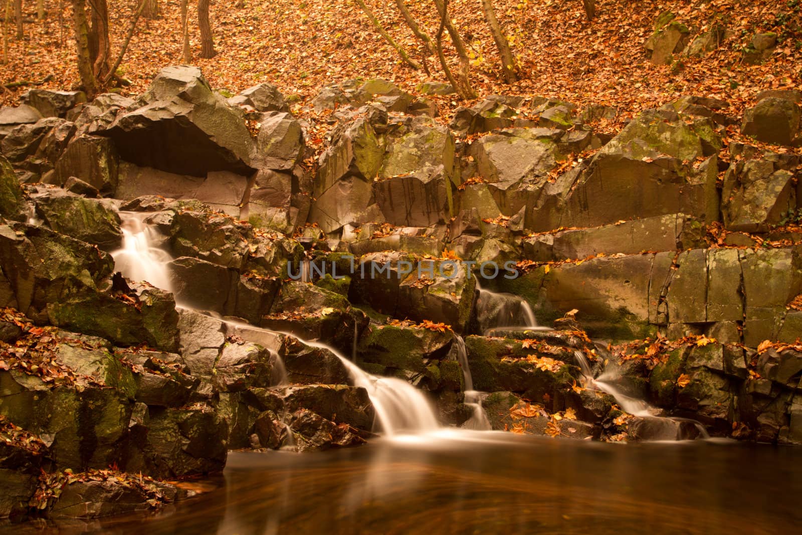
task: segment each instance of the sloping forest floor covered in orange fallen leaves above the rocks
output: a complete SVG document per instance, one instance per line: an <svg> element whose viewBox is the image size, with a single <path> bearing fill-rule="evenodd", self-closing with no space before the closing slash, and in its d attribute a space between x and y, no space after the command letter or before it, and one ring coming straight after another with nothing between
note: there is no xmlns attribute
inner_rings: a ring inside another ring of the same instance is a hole
<svg viewBox="0 0 802 535"><path fill-rule="evenodd" d="M111 43L124 41L136 0L111 3ZM192 3L192 2L190 2ZM404 25L394 2L367 0L379 20L420 61L422 47ZM70 88L79 82L69 2L46 0L47 18L36 21L35 2L25 0L25 37L14 39L7 24L8 63L0 83L37 81ZM412 14L432 37L439 24L431 0L407 0ZM497 15L512 42L520 81L504 83L500 60L484 23L479 0L452 0L452 19L469 45L472 84L481 96L542 95L572 103L607 104L627 114L656 107L679 95L725 99L740 111L759 91L802 87L802 1L800 0L597 0L588 22L580 0L495 0ZM119 74L131 81L124 94L144 91L161 67L181 63L180 2L160 0L161 18L140 18ZM654 20L672 10L695 33L719 22L733 31L703 58L681 58L656 66L643 43ZM401 63L352 0L217 0L211 19L217 56L201 59L195 6L190 6L192 63L216 89L237 93L261 82L276 84L301 101L320 87L350 78L380 77L414 91L427 80L445 81L436 56L427 59L431 76ZM743 62L743 48L755 33L773 31L779 45L762 65ZM448 52L448 51L447 51ZM450 57L456 59L453 54ZM26 87L5 89L0 103L13 104ZM443 99L446 108L458 104ZM448 109L441 112L449 115Z"/></svg>

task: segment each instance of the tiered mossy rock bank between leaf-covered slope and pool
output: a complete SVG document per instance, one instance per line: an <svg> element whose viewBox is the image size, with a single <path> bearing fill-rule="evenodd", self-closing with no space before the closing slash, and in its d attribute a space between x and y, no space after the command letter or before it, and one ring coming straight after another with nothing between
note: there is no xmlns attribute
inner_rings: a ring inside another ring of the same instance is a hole
<svg viewBox="0 0 802 535"><path fill-rule="evenodd" d="M379 79L309 106L167 67L137 99L0 111L0 516L147 509L231 449L362 444L379 415L342 355L442 424L472 417L467 363L499 430L699 434L623 411L603 374L654 415L802 444L798 91L614 134L614 108L537 97L447 122ZM115 273L134 223L160 287Z"/></svg>

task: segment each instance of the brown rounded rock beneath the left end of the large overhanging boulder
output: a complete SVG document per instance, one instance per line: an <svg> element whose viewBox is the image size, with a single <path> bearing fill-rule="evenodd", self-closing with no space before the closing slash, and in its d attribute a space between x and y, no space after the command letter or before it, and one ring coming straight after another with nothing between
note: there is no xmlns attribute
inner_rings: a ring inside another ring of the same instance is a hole
<svg viewBox="0 0 802 535"><path fill-rule="evenodd" d="M77 176L103 194L114 194L117 188L119 156L111 140L94 136L78 136L55 163L53 183L64 184Z"/></svg>

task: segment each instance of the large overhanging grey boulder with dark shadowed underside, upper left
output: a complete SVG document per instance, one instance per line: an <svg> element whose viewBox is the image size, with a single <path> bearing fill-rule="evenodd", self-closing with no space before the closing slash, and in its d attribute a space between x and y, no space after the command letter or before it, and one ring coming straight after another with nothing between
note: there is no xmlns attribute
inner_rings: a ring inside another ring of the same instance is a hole
<svg viewBox="0 0 802 535"><path fill-rule="evenodd" d="M192 176L253 170L253 141L245 122L197 67L164 67L140 103L102 132L124 160Z"/></svg>

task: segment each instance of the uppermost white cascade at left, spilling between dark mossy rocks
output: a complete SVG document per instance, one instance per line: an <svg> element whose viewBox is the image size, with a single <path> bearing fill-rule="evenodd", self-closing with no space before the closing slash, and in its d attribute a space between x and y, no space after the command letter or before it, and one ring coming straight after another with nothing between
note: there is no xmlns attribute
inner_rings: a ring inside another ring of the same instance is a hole
<svg viewBox="0 0 802 535"><path fill-rule="evenodd" d="M120 212L123 246L111 252L115 269L132 281L147 281L156 288L172 291L167 268L169 253L152 245L158 233L145 223L150 213Z"/></svg>

